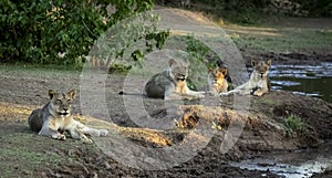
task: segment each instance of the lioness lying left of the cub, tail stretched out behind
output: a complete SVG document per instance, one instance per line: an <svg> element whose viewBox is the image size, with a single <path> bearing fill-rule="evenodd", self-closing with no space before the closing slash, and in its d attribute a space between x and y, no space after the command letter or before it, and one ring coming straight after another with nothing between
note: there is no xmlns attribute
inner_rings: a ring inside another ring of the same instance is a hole
<svg viewBox="0 0 332 178"><path fill-rule="evenodd" d="M164 100L195 100L203 98L205 92L195 92L187 86L189 64L185 61L168 61L168 67L155 74L145 85L148 97Z"/></svg>

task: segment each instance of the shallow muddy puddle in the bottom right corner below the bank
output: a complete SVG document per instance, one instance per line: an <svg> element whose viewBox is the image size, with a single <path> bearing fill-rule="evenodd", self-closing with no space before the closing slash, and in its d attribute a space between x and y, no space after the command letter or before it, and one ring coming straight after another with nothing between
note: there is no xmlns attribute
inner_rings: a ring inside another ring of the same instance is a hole
<svg viewBox="0 0 332 178"><path fill-rule="evenodd" d="M240 163L230 163L235 167L249 170L271 171L287 178L308 178L332 167L332 143L319 149L295 153L269 154ZM264 176L264 175L262 175Z"/></svg>

